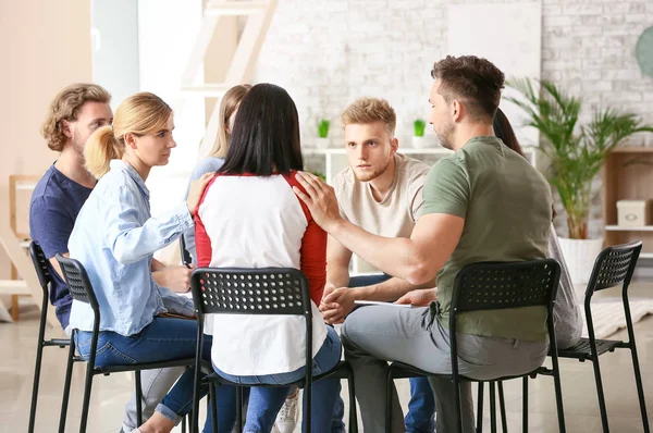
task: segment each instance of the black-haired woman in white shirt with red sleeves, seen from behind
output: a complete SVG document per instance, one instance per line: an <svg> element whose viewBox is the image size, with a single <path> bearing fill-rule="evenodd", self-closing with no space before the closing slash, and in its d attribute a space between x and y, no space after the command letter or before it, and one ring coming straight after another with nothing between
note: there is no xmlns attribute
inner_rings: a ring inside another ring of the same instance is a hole
<svg viewBox="0 0 653 433"><path fill-rule="evenodd" d="M299 186L298 170L303 159L295 103L283 88L258 84L241 102L224 165L196 212L197 261L200 268L300 270L312 300L312 373L320 374L340 361L341 342L318 309L326 280L326 234L292 189ZM301 317L217 314L213 368L248 385L300 380L304 329ZM261 342L267 342L264 348ZM269 432L289 391L289 385L252 387L245 431ZM313 384L313 432L330 431L337 392L336 379Z"/></svg>

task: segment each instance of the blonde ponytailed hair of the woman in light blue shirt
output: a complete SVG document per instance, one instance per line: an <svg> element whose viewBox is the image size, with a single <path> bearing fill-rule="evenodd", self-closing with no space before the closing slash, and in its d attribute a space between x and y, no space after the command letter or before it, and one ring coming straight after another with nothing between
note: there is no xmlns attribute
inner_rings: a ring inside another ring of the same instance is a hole
<svg viewBox="0 0 653 433"><path fill-rule="evenodd" d="M96 129L84 148L86 170L97 178L109 171L109 161L125 152L125 134L136 137L165 128L172 109L153 94L140 92L125 99L115 110L113 126Z"/></svg>

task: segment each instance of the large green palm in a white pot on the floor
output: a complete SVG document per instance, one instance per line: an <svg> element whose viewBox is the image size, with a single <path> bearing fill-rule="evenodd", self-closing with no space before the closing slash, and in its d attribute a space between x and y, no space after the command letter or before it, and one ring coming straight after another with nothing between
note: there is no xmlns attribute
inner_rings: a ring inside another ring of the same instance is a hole
<svg viewBox="0 0 653 433"><path fill-rule="evenodd" d="M551 162L549 178L567 213L568 238L559 238L563 255L572 282L584 284L603 248L603 239L590 239L588 230L592 181L613 148L632 134L653 127L642 124L636 114L612 108L594 110L591 120L579 125L580 98L553 83L534 83L529 78L508 81L521 97L505 99L521 108L526 124L541 134L540 150Z"/></svg>

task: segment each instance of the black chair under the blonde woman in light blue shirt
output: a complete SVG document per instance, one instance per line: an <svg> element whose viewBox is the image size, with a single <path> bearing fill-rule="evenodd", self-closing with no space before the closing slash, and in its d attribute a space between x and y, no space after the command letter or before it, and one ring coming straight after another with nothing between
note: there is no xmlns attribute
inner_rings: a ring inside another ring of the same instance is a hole
<svg viewBox="0 0 653 433"><path fill-rule="evenodd" d="M171 367L193 367L195 366L195 358L186 358L186 359L176 359L170 361L160 361L160 362L147 362L147 363L134 363L127 366L110 366L110 367L97 367L95 364L96 359L96 350L98 347L98 336L99 336L99 326L100 326L100 307L98 305L98 300L96 298L95 292L90 282L88 280L88 275L86 274L86 270L77 260L70 259L63 257L61 255L57 255L57 260L61 265L61 271L63 272L63 276L65 279L65 283L69 286L69 290L74 300L79 302L85 302L90 305L94 313L94 325L93 325L93 336L90 341L90 355L88 362L86 364L86 381L84 385L84 403L82 406L82 420L79 422L79 432L86 432L86 424L88 421L88 407L90 404L90 388L93 385L94 376L98 374L109 375L111 373L121 373L133 371L135 374L135 388L136 388L136 418L138 423L143 423L143 391L140 386L140 371L141 370L155 370L155 369L164 369ZM65 385L63 391L63 403L62 403L62 418L59 422L59 432L63 433L65 429L65 413L67 410L69 396L71 391L71 380L73 373L73 362L76 360L83 360L79 357L75 356L75 343L74 338L77 333L77 330L73 330L73 334L70 339L70 351L69 351L69 360L65 372Z"/></svg>

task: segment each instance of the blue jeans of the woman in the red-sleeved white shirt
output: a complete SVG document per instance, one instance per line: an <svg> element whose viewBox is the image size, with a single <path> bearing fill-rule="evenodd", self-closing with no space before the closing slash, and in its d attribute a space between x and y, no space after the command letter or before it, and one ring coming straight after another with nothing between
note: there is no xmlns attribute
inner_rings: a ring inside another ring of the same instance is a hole
<svg viewBox="0 0 653 433"><path fill-rule="evenodd" d="M331 326L326 327L326 339L317 352L312 361L312 373L315 375L322 374L333 369L341 359L342 345L335 330ZM247 409L247 422L245 423L245 433L270 432L274 426L276 413L283 406L291 386L256 386L260 384L267 385L284 385L297 382L306 375L306 367L289 373L258 375L258 376L238 376L231 375L220 371L213 366L218 374L227 381L241 383L243 385L252 386L249 392L249 407ZM315 382L312 385L312 404L311 404L311 431L315 433L329 433L329 424L333 417L335 399L337 398L340 380L324 379ZM305 389L306 392L306 389ZM304 413L307 412L306 406ZM306 425L303 423L303 431Z"/></svg>

